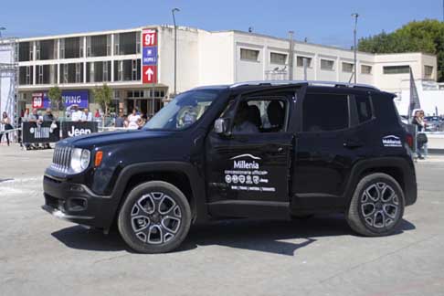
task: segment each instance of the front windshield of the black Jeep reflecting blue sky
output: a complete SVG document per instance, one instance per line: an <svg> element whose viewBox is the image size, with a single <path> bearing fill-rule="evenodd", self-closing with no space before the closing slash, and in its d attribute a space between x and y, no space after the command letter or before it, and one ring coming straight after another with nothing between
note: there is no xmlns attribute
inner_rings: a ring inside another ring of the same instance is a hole
<svg viewBox="0 0 444 296"><path fill-rule="evenodd" d="M183 130L197 122L221 90L190 90L177 97L145 124L143 130Z"/></svg>

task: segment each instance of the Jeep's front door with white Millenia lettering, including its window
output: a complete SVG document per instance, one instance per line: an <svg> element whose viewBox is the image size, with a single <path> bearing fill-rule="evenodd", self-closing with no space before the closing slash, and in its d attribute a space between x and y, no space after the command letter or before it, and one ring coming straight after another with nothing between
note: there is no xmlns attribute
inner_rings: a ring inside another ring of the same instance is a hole
<svg viewBox="0 0 444 296"><path fill-rule="evenodd" d="M206 138L210 214L287 218L294 135L286 132L285 122L291 97L254 97L244 101L248 103L245 108L251 111L248 121L256 127L234 119L234 125L239 124L244 130L233 126L230 135L209 132ZM235 114L238 115L238 109Z"/></svg>

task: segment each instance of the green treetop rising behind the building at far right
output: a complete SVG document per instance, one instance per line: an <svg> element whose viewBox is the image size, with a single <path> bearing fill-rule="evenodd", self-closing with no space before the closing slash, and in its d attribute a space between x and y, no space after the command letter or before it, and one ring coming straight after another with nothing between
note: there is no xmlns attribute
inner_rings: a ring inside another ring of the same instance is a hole
<svg viewBox="0 0 444 296"><path fill-rule="evenodd" d="M413 21L389 34L383 31L361 38L358 49L372 53L420 51L436 55L438 80L444 81L444 22L433 19Z"/></svg>

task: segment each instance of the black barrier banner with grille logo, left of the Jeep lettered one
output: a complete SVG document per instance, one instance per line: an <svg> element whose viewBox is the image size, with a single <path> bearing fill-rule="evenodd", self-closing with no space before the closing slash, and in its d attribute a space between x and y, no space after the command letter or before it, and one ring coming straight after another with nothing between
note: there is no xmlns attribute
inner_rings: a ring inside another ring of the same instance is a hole
<svg viewBox="0 0 444 296"><path fill-rule="evenodd" d="M60 140L59 122L23 122L23 143L54 143Z"/></svg>

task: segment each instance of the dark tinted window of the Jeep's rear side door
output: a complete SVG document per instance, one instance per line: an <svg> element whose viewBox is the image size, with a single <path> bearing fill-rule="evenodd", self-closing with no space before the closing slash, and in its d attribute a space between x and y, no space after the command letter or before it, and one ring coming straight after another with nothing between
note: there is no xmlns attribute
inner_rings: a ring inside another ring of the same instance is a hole
<svg viewBox="0 0 444 296"><path fill-rule="evenodd" d="M348 96L308 93L302 104L303 132L328 132L349 126Z"/></svg>

